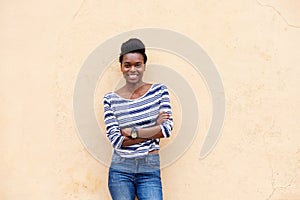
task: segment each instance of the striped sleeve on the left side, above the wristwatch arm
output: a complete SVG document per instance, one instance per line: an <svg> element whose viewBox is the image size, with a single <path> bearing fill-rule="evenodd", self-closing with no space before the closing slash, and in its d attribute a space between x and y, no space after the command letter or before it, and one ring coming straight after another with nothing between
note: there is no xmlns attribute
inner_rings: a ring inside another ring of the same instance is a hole
<svg viewBox="0 0 300 200"><path fill-rule="evenodd" d="M111 107L109 94L104 96L104 122L106 125L106 136L111 142L113 148L120 149L122 147L124 136L121 135L121 130L117 118L114 115Z"/></svg>

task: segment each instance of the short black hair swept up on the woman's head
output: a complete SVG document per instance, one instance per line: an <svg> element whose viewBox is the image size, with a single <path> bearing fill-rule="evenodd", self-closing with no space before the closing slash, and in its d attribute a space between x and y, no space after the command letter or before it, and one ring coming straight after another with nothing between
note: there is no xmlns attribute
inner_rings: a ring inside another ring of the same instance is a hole
<svg viewBox="0 0 300 200"><path fill-rule="evenodd" d="M119 57L119 62L122 64L123 56L127 53L140 53L144 57L144 64L147 62L147 55L145 53L145 45L144 43L137 39L131 38L124 42L121 46L121 53Z"/></svg>

